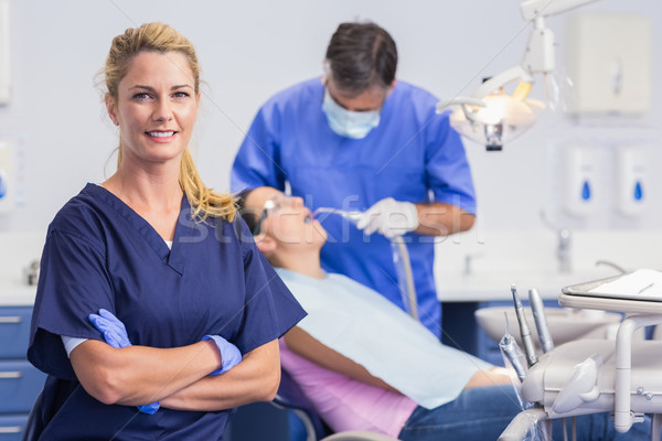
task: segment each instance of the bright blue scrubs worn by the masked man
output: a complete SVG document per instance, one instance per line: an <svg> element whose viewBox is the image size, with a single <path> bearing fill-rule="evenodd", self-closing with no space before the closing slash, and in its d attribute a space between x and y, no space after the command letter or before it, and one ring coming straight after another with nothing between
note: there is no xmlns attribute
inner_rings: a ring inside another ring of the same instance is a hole
<svg viewBox="0 0 662 441"><path fill-rule="evenodd" d="M236 155L232 189L261 185L291 193L306 205L367 209L384 197L444 202L476 214L471 171L448 115L437 115L429 93L398 80L382 108L380 125L364 139L331 130L320 78L270 98L255 117ZM389 241L330 215L319 218L329 233L322 266L369 286L404 308ZM433 266L434 238L408 234L408 250L421 322L440 334L441 308Z"/></svg>

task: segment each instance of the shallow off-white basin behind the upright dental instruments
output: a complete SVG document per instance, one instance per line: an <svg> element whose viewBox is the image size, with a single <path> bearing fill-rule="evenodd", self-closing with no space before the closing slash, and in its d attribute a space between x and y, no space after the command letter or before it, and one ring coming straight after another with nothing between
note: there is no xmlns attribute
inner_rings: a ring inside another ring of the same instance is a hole
<svg viewBox="0 0 662 441"><path fill-rule="evenodd" d="M520 324L517 323L514 306L482 308L477 310L474 315L480 327L492 340L499 342L505 333L504 313L508 314L511 335L515 337L520 347L523 347L520 338ZM549 326L552 340L556 346L577 338L612 337L616 335L616 330L622 319L621 314L615 312L565 308L547 308L545 309L545 315L547 316L547 325ZM524 316L531 329L533 342L540 349L537 330L535 329L531 308L524 308Z"/></svg>

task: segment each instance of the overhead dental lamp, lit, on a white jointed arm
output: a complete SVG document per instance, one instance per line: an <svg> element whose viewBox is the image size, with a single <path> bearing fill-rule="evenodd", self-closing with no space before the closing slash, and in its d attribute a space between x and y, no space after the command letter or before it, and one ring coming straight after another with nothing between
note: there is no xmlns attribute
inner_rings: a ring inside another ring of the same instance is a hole
<svg viewBox="0 0 662 441"><path fill-rule="evenodd" d="M532 108L544 108L540 101L526 99L535 74L554 71L554 34L545 28L544 18L565 12L597 0L526 0L520 4L524 20L533 30L522 62L487 79L471 96L456 97L437 104L437 112L452 110L451 126L462 136L482 143L488 151L500 151L535 122ZM512 95L504 87L519 80Z"/></svg>

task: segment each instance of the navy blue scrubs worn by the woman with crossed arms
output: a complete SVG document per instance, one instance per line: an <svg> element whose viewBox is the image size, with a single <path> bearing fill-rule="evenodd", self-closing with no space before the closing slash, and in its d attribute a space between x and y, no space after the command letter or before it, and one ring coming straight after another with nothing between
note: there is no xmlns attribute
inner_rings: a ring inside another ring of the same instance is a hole
<svg viewBox="0 0 662 441"><path fill-rule="evenodd" d="M114 312L135 345L178 347L216 334L242 354L306 314L242 220L196 223L185 196L170 250L129 206L88 184L50 225L41 268L28 356L49 374L42 441L221 440L234 412L161 407L146 415L97 401L76 380L61 340L104 341L92 312Z"/></svg>

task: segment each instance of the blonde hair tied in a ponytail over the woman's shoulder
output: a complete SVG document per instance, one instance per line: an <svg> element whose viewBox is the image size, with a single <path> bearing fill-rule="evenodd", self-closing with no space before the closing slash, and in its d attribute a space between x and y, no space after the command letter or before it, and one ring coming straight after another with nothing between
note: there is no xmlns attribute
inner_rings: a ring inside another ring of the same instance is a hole
<svg viewBox="0 0 662 441"><path fill-rule="evenodd" d="M200 64L193 44L168 24L151 22L139 28L129 28L124 34L113 39L104 68L104 80L107 94L116 101L119 82L127 75L134 58L145 51L183 54L193 73L195 95L200 93ZM121 160L120 148L117 155L118 166ZM202 182L189 147L182 154L179 183L193 207L193 217L200 220L206 219L207 216L222 217L229 222L234 219L236 214L234 197L231 194L215 193Z"/></svg>

